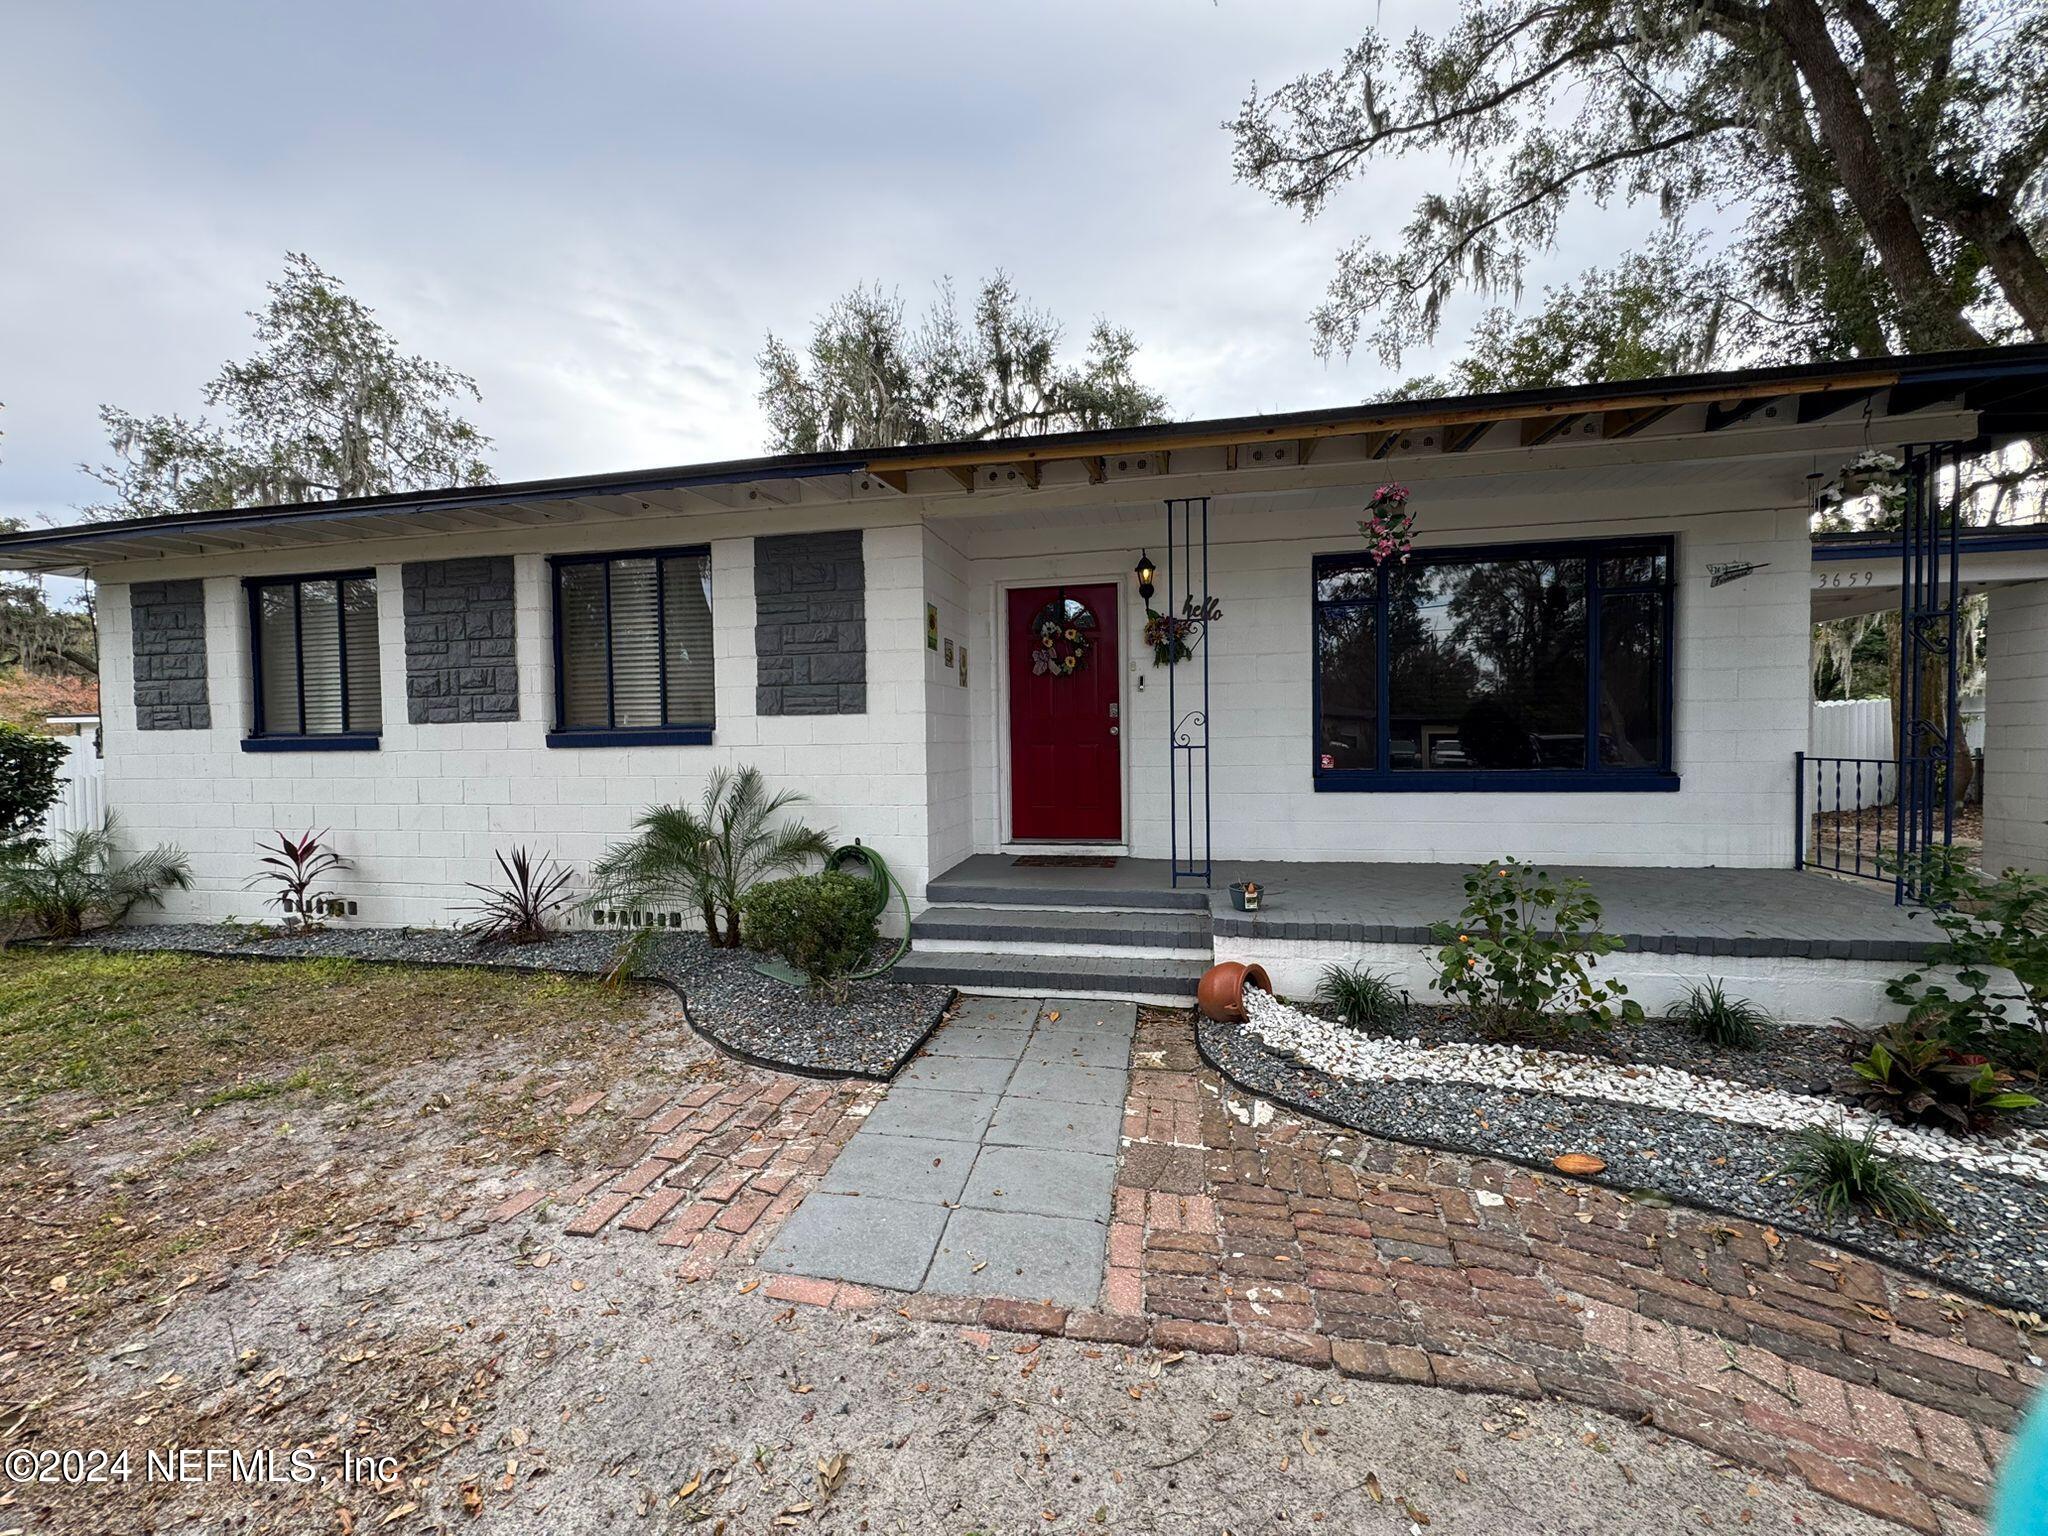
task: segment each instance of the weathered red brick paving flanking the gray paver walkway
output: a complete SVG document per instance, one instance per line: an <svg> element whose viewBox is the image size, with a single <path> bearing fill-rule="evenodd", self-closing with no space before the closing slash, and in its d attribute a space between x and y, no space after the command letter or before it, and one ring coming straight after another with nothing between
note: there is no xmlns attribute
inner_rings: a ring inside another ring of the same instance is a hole
<svg viewBox="0 0 2048 1536"><path fill-rule="evenodd" d="M635 1161L555 1192L584 1202L563 1231L647 1231L690 1280L748 1266L879 1098L737 1071L635 1106ZM1100 1307L797 1276L762 1296L1559 1397L1944 1534L1980 1530L2048 1348L1755 1223L1276 1112L1204 1069L1169 1014L1139 1024Z"/></svg>

